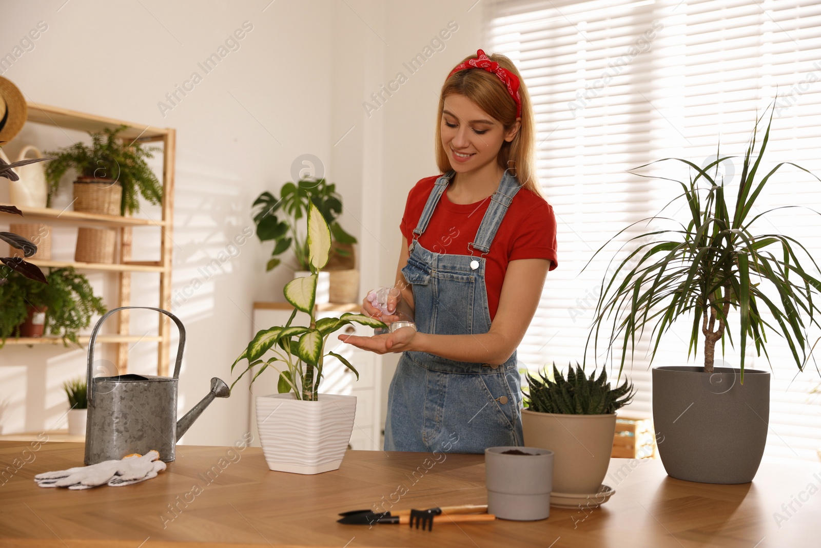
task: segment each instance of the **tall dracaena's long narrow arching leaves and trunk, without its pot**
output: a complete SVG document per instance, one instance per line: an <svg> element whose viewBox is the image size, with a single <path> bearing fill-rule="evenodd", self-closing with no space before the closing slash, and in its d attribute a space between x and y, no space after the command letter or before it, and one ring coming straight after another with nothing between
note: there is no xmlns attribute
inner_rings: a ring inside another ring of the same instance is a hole
<svg viewBox="0 0 821 548"><path fill-rule="evenodd" d="M690 177L687 183L667 177L653 177L681 185L681 194L667 206L679 203L686 206L688 219L686 223L679 223L657 214L633 223L617 234L616 237L638 223L673 223L673 228L631 237L625 245L636 241L640 241L640 245L621 260L612 276L603 279L588 338L588 344L591 339L594 341L594 352L599 330L609 331L608 352L621 343L623 368L628 349L632 356L635 353L635 339L648 329L652 363L667 330L676 320L689 317L692 327L688 358L690 353L697 353L699 337L703 336L705 372L713 371L716 343L721 341L722 348L725 340L734 344L730 329L733 324L737 325L736 329L741 334L738 343L742 382L748 340L752 339L759 357L764 352L769 360L765 328L773 329L785 339L796 365L803 370L812 352L807 330L812 325L819 326L816 320L819 314L817 296L821 283L815 274L819 270L818 265L805 246L795 238L777 233L759 233L753 225L773 210L801 207L788 205L759 213L755 209L756 199L770 177L784 165L810 172L795 163L781 162L756 181L759 169L763 171L761 162L773 123L771 110L764 139L756 150L759 124L766 114L765 110L755 122L743 157L741 182L734 204L728 203L727 187L724 186L723 177L718 175L718 164L733 156L722 158L717 154L715 161L705 168L679 158L657 160L640 166L644 168L666 161L688 166ZM715 170L711 174L713 168ZM813 177L821 182L819 177ZM810 263L812 271L805 269L805 264ZM765 310L772 315L772 320L764 317Z"/></svg>

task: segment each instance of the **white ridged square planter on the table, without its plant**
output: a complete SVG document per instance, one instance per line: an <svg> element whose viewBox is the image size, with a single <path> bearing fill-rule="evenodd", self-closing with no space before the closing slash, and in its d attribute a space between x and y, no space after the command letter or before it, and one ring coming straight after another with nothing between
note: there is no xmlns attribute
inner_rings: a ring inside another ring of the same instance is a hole
<svg viewBox="0 0 821 548"><path fill-rule="evenodd" d="M356 397L319 394L315 402L294 394L256 398L259 442L268 468L319 474L337 470L351 440Z"/></svg>

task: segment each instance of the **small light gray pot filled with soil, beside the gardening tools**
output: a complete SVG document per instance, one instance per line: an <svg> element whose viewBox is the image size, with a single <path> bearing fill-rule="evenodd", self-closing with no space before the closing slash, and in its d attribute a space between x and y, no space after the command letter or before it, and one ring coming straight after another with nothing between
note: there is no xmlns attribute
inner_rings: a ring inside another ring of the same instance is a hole
<svg viewBox="0 0 821 548"><path fill-rule="evenodd" d="M503 454L519 450L528 455ZM553 451L536 447L484 449L488 513L497 518L534 521L550 515Z"/></svg>

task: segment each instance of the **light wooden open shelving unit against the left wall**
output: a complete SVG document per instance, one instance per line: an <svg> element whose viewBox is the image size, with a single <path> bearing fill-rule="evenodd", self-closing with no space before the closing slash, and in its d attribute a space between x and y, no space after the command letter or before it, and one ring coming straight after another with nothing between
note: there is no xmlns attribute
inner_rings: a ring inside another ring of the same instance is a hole
<svg viewBox="0 0 821 548"><path fill-rule="evenodd" d="M149 272L159 274L159 302L158 307L171 307L171 271L172 271L172 229L174 214L174 161L177 143L176 130L168 127L152 127L146 124L126 122L115 118L102 117L96 114L79 113L66 108L52 107L42 104L28 103L29 115L27 122L44 124L51 127L71 129L76 131L101 131L125 125L120 138L128 143L163 143L163 204L162 219L135 219L117 215L100 215L80 213L69 210L20 208L24 218L20 223L42 222L59 226L88 227L88 228L115 228L119 240L117 263L96 264L79 263L62 260L30 260L34 265L43 268L64 268L73 266L78 270L90 270L111 273L117 279L117 302L115 306L129 306L131 303L131 273ZM6 219L3 219L4 221ZM159 260L132 261L131 244L135 227L159 228ZM119 374L128 371L128 345L136 342L155 342L158 344L158 373L168 375L170 360L169 348L171 338L170 320L159 314L159 329L155 335L139 335L129 333L129 311L122 311L117 318L117 334L100 335L98 343L117 345L114 363ZM89 342L88 337L79 337L80 344ZM62 338L8 338L6 344L11 345L44 345L62 344Z"/></svg>

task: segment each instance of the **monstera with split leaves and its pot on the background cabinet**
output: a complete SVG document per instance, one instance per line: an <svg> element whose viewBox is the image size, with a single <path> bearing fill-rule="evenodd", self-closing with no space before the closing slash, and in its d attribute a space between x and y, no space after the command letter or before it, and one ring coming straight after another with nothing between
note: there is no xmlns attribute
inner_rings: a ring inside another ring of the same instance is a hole
<svg viewBox="0 0 821 548"><path fill-rule="evenodd" d="M308 246L300 219L306 218L310 204L322 214L332 235L332 254L319 278L317 302L356 302L359 293L359 271L355 269L353 248L356 238L346 233L337 221L342 214L342 196L337 193L336 185L328 184L325 179L287 182L279 198L265 191L255 200L252 207L257 237L260 242L275 242L266 269L280 265L279 256L290 249L296 260L294 276L304 277L309 273ZM277 217L277 211L281 218Z"/></svg>

